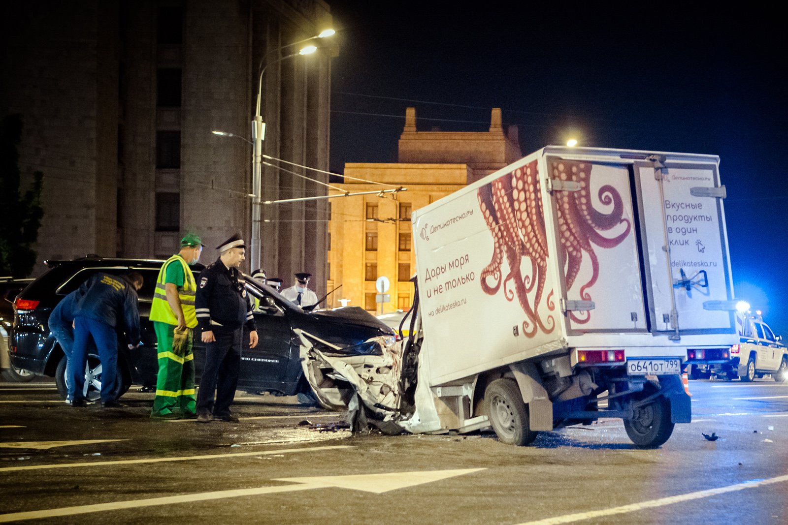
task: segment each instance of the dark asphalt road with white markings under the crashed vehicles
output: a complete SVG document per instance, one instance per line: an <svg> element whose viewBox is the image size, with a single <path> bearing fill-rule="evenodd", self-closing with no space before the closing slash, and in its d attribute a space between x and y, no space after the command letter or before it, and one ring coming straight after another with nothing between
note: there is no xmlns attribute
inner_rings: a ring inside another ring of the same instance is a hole
<svg viewBox="0 0 788 525"><path fill-rule="evenodd" d="M529 447L351 436L344 414L241 392L240 423L162 422L136 390L72 409L50 384L0 384L0 523L788 523L771 379L690 382L693 423L652 450L619 420Z"/></svg>

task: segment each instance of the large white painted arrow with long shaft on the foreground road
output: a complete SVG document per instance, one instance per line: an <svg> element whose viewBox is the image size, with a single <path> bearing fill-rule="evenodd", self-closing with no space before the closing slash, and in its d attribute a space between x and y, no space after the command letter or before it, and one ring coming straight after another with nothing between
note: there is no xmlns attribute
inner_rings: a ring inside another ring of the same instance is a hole
<svg viewBox="0 0 788 525"><path fill-rule="evenodd" d="M0 523L20 521L23 519L53 518L57 516L73 516L87 514L88 512L106 512L122 508L151 507L154 505L173 505L174 503L191 503L193 501L219 500L227 497L258 496L260 494L276 494L281 492L295 492L296 490L322 489L337 487L343 489L365 490L381 494L388 490L402 489L407 486L421 485L422 483L452 478L454 476L470 474L485 470L484 468L464 468L449 471L426 472L391 472L388 474L364 474L347 476L325 476L318 478L287 478L274 481L292 481L299 485L287 486L259 486L254 489L217 490L215 492L202 492L198 494L182 494L180 496L151 497L143 500L113 501L112 503L99 503L96 505L82 505L79 507L49 508L46 510L13 512L0 514Z"/></svg>

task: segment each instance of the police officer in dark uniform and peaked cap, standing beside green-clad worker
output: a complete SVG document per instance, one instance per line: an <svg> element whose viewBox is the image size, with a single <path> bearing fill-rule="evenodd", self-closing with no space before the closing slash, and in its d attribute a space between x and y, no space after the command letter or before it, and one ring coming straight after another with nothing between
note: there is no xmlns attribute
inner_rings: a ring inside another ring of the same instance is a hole
<svg viewBox="0 0 788 525"><path fill-rule="evenodd" d="M230 405L238 384L244 324L249 329L250 348L257 346L258 338L246 282L238 270L246 258L246 245L240 235L233 235L217 250L219 258L200 273L197 287L197 321L207 345L197 393L197 421L209 423L216 418L237 423Z"/></svg>

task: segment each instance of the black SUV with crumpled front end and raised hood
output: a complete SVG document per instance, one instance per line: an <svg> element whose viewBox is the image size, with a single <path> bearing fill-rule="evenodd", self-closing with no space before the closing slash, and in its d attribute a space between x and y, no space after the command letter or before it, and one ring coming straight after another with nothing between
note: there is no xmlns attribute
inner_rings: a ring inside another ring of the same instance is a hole
<svg viewBox="0 0 788 525"><path fill-rule="evenodd" d="M47 321L58 301L76 290L96 272L122 274L135 271L143 275L145 284L139 290L139 316L142 345L129 350L124 338L118 345L117 397L132 384L154 387L158 374L156 336L148 320L159 268L164 261L148 259L107 259L88 256L73 261L46 261L50 270L35 279L20 292L14 302L15 316L9 337L11 362L36 375L54 376L60 394L65 398L65 356L57 340L50 333ZM199 272L205 268L195 264L193 272L199 282ZM394 331L382 324L366 310L358 307L305 312L277 294L271 287L247 275L247 293L258 299L255 310L259 342L249 348L249 337L244 334L238 388L250 393L270 392L276 395L307 394L314 399L304 379L299 356L299 338L292 331L300 328L309 334L355 352L352 346L378 336L394 337ZM205 365L205 345L199 329L195 330L195 372L197 379ZM101 363L91 352L87 360L87 397L99 397ZM91 379L92 378L92 379Z"/></svg>

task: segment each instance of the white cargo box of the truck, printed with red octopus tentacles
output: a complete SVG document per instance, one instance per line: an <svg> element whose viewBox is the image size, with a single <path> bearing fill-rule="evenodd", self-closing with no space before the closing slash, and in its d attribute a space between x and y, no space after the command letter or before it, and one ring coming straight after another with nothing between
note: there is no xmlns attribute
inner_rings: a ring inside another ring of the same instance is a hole
<svg viewBox="0 0 788 525"><path fill-rule="evenodd" d="M737 342L718 165L548 146L414 211L430 386L562 349Z"/></svg>

